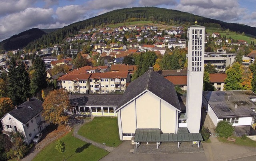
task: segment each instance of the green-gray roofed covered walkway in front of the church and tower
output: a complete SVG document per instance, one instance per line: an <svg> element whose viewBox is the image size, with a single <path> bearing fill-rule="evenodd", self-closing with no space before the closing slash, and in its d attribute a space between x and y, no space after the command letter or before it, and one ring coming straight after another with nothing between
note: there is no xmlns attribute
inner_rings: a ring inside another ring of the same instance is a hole
<svg viewBox="0 0 256 161"><path fill-rule="evenodd" d="M180 142L192 142L193 144L200 145L200 141L203 140L200 133L188 133L187 128L178 129L179 133L176 134L161 134L160 129L136 129L134 142L136 144L136 149L141 143L156 143L157 149L160 143L163 142L178 142L178 148Z"/></svg>

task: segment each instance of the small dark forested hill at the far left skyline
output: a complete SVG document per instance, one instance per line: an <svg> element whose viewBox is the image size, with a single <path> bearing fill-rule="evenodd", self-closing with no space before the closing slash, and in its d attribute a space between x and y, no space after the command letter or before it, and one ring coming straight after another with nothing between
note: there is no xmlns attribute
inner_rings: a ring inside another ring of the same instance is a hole
<svg viewBox="0 0 256 161"><path fill-rule="evenodd" d="M33 42L34 40L41 38L42 35L46 34L38 28L32 28L30 30L21 32L18 35L14 35L2 42L0 42L0 49L4 50L14 50L22 49L28 43Z"/></svg>

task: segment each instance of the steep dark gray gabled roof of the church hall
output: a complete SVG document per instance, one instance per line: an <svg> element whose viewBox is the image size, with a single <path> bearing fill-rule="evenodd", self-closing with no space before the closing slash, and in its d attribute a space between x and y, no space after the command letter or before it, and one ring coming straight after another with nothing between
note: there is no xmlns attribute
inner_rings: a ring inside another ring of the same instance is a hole
<svg viewBox="0 0 256 161"><path fill-rule="evenodd" d="M120 100L118 108L134 99L134 97L146 89L181 111L174 84L153 71L152 68L129 84Z"/></svg>

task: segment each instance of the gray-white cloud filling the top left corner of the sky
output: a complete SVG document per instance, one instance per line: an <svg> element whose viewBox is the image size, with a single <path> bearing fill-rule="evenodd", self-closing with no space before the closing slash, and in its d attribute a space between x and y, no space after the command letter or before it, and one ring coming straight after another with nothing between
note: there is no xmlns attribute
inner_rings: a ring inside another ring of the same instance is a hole
<svg viewBox="0 0 256 161"><path fill-rule="evenodd" d="M0 16L25 10L34 2L36 0L0 0Z"/></svg>

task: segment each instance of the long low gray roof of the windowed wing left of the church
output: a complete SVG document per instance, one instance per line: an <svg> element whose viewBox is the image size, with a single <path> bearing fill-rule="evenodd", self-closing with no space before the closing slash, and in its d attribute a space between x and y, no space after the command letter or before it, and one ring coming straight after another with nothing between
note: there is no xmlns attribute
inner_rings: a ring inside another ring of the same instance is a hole
<svg viewBox="0 0 256 161"><path fill-rule="evenodd" d="M72 106L117 106L122 94L84 94L69 95Z"/></svg>

